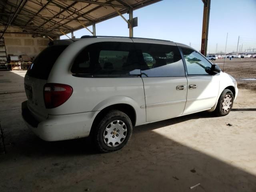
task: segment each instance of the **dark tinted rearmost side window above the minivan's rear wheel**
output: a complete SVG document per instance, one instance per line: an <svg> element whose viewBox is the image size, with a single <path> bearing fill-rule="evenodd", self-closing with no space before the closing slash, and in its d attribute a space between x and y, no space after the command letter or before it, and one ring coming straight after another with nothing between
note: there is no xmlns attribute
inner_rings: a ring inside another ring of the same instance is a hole
<svg viewBox="0 0 256 192"><path fill-rule="evenodd" d="M100 42L78 54L71 72L89 76L131 76L140 74L140 66L132 43Z"/></svg>

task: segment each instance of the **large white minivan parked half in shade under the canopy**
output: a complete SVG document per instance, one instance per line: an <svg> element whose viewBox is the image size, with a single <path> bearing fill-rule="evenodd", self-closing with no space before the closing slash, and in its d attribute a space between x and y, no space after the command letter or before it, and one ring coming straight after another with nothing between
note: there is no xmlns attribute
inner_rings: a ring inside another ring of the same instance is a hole
<svg viewBox="0 0 256 192"><path fill-rule="evenodd" d="M204 110L227 115L238 94L232 76L189 46L100 36L50 42L24 86L22 117L36 135L90 136L101 152L122 148L138 125Z"/></svg>

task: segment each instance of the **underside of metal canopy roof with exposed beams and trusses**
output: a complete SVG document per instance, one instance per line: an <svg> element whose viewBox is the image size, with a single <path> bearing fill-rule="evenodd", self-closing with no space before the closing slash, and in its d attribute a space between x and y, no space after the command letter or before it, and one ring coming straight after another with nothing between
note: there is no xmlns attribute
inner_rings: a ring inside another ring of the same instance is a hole
<svg viewBox="0 0 256 192"><path fill-rule="evenodd" d="M8 26L22 29L20 33L59 36L158 1L0 0L0 26L5 28L0 36Z"/></svg>

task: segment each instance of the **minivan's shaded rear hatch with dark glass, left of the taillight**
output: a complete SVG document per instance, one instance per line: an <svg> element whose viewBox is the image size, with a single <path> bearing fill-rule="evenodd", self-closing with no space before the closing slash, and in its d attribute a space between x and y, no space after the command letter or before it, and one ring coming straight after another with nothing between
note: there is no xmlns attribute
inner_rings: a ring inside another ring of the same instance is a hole
<svg viewBox="0 0 256 192"><path fill-rule="evenodd" d="M32 62L24 78L28 108L38 121L42 121L48 116L44 105L44 85L52 66L67 46L50 46L44 49Z"/></svg>

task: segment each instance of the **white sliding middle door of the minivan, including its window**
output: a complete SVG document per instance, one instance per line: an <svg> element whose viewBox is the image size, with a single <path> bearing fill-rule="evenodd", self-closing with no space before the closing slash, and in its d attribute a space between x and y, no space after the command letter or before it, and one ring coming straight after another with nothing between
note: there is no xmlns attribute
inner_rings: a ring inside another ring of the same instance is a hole
<svg viewBox="0 0 256 192"><path fill-rule="evenodd" d="M146 105L142 108L146 108L146 121L182 115L186 104L187 79L178 47L175 44L139 41L134 39L144 83Z"/></svg>

